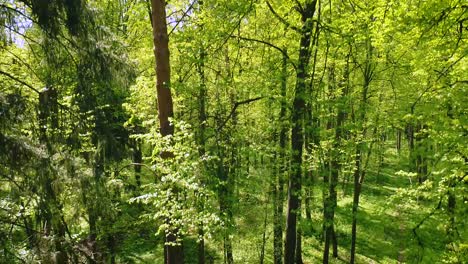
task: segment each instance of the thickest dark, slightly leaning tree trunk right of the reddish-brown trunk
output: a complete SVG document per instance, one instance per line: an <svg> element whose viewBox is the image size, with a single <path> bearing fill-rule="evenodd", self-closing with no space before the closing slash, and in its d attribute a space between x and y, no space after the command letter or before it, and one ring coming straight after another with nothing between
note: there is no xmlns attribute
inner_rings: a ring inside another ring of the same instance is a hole
<svg viewBox="0 0 468 264"><path fill-rule="evenodd" d="M301 12L301 40L299 50L299 63L296 73L296 87L292 109L292 173L288 186L288 211L286 220L286 240L284 250L284 263L292 264L296 259L297 214L302 188L302 148L304 145L304 110L307 69L310 61L310 44L312 35L312 18L315 13L317 0L306 1Z"/></svg>

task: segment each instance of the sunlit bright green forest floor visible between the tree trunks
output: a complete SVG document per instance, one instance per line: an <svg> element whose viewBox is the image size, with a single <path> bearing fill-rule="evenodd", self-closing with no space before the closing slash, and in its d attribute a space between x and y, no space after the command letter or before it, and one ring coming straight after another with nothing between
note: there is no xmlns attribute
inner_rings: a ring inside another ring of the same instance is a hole
<svg viewBox="0 0 468 264"><path fill-rule="evenodd" d="M389 148L386 159L396 157L396 152ZM427 243L421 250L412 234L412 227L426 214L423 204L415 207L402 202L395 202L392 197L401 188L411 186L411 180L398 175L394 167L388 167L383 163L381 168L369 168L367 178L364 181L361 201L358 212L356 263L435 263L431 256L437 256L445 246L443 241L437 241L439 231L433 229L440 219L429 219L425 226L432 229L421 230L421 237ZM400 168L404 168L401 164ZM258 169L251 173L264 174L266 170ZM248 183L239 183L244 193L240 195L239 207L236 208L239 216L236 221L236 233L232 236L234 263L256 264L261 263L262 247L265 245L263 263L273 263L273 232L272 226L265 229L265 217L271 223L272 209L270 207L268 194L250 196L249 193L257 193L255 186L268 184L268 178L251 177ZM256 179L256 180L254 180ZM263 179L263 180L262 180ZM352 181L352 179L351 179ZM352 182L346 184L340 182L338 187L338 207L336 211L336 232L338 239L337 259L331 258L330 263L348 263L351 247L351 212L352 212ZM249 191L251 188L251 192ZM320 230L322 222L321 187L314 188L312 201L312 224L304 226L303 236L303 260L305 264L322 263L323 243L320 241ZM346 194L345 194L346 193ZM409 217L411 215L411 217ZM427 227L426 227L427 228ZM424 229L424 228L422 228ZM266 243L264 244L263 233L265 232ZM430 231L428 231L430 230ZM424 231L424 232L423 232ZM430 237L427 237L429 234ZM424 237L426 236L426 237ZM432 237L433 236L433 237ZM429 240L427 240L429 239ZM207 263L223 263L222 239L219 234L213 234L207 240ZM196 244L191 239L185 244L186 263L196 263ZM146 252L135 259L136 263L159 263L162 256L162 247ZM419 258L419 260L418 260ZM156 262L155 262L156 261ZM193 262L192 262L193 261ZM162 262L161 262L162 263Z"/></svg>

